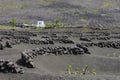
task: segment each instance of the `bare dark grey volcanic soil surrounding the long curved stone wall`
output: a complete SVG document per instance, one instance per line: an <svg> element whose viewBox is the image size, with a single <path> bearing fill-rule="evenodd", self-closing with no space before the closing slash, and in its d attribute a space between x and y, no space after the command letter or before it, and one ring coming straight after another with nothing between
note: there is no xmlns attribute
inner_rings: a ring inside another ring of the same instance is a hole
<svg viewBox="0 0 120 80"><path fill-rule="evenodd" d="M57 30L43 30L41 32L54 32ZM59 30L58 30L59 31ZM64 29L64 31L80 32L79 29ZM61 31L62 32L62 31ZM40 36L37 37L40 39ZM79 42L78 37L71 37L75 42ZM5 48L0 50L0 59L10 59L17 62L20 59L20 53L24 49L32 49L42 46L75 46L75 44L54 45L31 45L20 44L14 45L13 48ZM33 59L36 66L35 69L23 67L25 74L0 73L0 80L119 80L120 77L120 51L113 48L89 47L91 54L85 55L40 55ZM115 54L116 53L116 54ZM80 76L69 75L67 73L68 66L73 69L85 68L87 71L95 70L96 74L86 74ZM19 65L20 66L20 65ZM22 66L21 66L22 67Z"/></svg>

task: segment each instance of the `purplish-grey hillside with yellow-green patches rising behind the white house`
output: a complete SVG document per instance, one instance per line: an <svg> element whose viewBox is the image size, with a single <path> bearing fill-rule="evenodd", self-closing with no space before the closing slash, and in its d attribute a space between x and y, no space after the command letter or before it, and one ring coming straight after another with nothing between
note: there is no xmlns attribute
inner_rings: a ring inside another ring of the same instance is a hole
<svg viewBox="0 0 120 80"><path fill-rule="evenodd" d="M0 24L37 20L65 25L119 26L120 0L0 0Z"/></svg>

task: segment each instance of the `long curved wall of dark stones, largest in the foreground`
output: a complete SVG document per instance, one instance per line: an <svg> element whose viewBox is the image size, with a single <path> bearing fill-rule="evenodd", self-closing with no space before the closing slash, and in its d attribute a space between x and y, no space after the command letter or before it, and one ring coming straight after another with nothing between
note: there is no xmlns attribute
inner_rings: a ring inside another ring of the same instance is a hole
<svg viewBox="0 0 120 80"><path fill-rule="evenodd" d="M77 45L78 47L41 47L35 49L24 50L21 53L21 61L22 64L29 67L34 68L34 64L32 59L37 57L38 55L83 55L90 54L87 47L83 45Z"/></svg>

